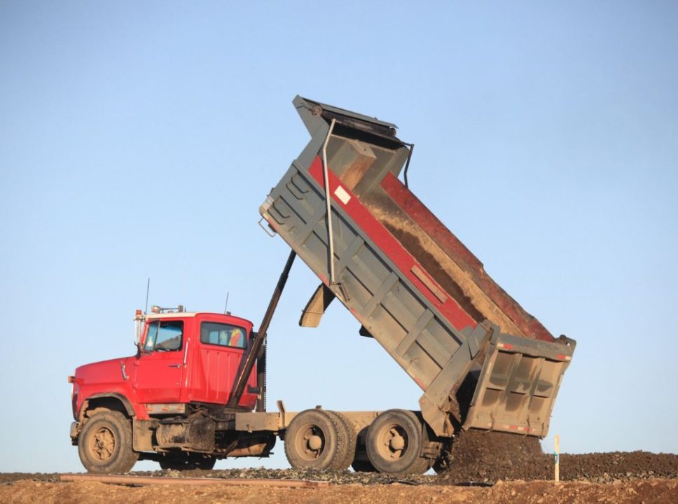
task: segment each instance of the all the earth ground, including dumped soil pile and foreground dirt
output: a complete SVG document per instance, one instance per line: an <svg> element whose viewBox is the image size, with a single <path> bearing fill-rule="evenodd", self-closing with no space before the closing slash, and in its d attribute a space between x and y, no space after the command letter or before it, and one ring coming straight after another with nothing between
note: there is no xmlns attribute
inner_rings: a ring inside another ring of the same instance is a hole
<svg viewBox="0 0 678 504"><path fill-rule="evenodd" d="M263 468L167 470L132 472L153 477L157 484L125 486L62 482L58 474L0 473L0 503L678 503L675 454L562 454L561 482L553 482L553 470L553 455L544 454L534 437L469 431L457 437L448 468L439 475L397 477L375 472ZM185 477L209 483L163 483ZM229 486L228 479L248 484ZM269 482L254 484L253 479ZM329 486L279 488L276 479L322 481Z"/></svg>

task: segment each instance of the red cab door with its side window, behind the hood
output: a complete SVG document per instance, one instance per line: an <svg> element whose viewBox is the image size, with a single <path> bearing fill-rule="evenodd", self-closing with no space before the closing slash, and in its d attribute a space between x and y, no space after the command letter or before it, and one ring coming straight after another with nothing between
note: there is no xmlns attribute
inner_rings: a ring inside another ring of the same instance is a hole
<svg viewBox="0 0 678 504"><path fill-rule="evenodd" d="M181 402L188 344L184 321L148 323L142 351L134 360L137 402Z"/></svg>

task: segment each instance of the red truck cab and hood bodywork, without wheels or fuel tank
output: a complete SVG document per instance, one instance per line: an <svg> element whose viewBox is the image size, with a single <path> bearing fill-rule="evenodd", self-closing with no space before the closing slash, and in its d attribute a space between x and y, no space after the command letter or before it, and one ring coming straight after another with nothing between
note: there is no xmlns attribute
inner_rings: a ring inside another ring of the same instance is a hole
<svg viewBox="0 0 678 504"><path fill-rule="evenodd" d="M225 405L252 332L244 318L213 313L151 313L146 316L139 351L76 369L73 414L102 395L118 397L137 419L179 404ZM256 372L238 406L254 409Z"/></svg>

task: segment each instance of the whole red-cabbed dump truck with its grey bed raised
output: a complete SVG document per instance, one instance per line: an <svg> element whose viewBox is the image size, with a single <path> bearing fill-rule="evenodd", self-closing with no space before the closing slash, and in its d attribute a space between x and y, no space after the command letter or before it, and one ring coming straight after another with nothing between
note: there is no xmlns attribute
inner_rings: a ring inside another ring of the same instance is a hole
<svg viewBox="0 0 678 504"><path fill-rule="evenodd" d="M409 190L414 146L395 125L293 104L311 139L259 209L261 227L291 248L261 325L137 310L136 355L69 377L71 442L90 472L144 459L209 469L269 456L279 438L294 468L421 473L440 468L464 430L548 433L574 340L553 337ZM296 256L320 281L300 325L343 304L420 386L419 410L288 412L277 401L267 411L265 342Z"/></svg>

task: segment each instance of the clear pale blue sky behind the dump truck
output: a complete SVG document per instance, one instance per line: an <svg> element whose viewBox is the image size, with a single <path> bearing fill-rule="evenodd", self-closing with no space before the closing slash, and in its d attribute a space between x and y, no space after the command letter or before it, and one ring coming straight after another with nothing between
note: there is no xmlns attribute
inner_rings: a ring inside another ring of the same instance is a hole
<svg viewBox="0 0 678 504"><path fill-rule="evenodd" d="M258 324L296 94L399 125L410 188L578 341L547 451L678 453L677 27L671 1L1 2L0 471L82 470L66 377L134 352L148 276L151 303L230 293ZM339 304L298 327L316 284L297 262L270 406L416 408Z"/></svg>

